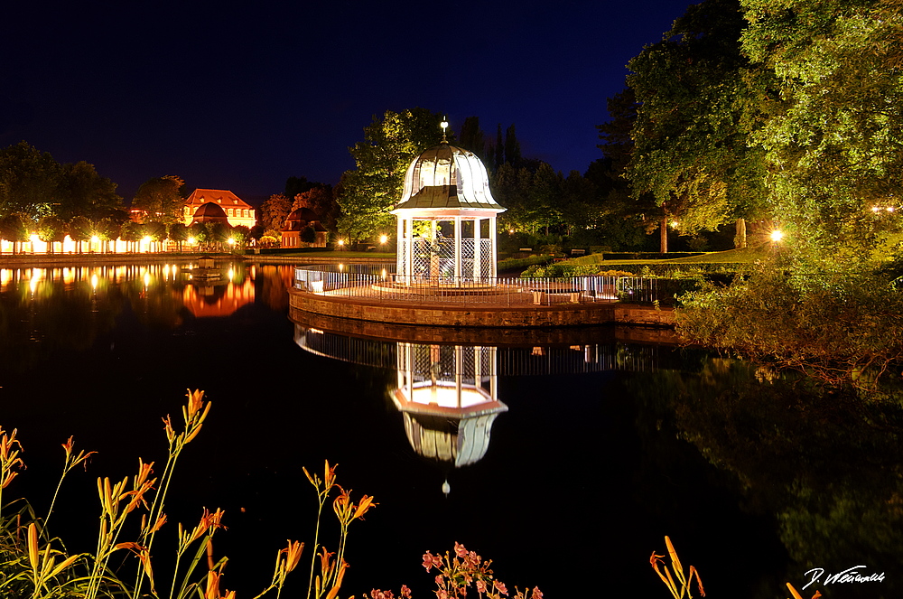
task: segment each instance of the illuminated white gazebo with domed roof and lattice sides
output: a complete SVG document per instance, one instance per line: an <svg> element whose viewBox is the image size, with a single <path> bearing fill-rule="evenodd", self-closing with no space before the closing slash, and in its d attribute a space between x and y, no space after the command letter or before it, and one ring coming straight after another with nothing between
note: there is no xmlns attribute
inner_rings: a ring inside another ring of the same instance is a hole
<svg viewBox="0 0 903 599"><path fill-rule="evenodd" d="M396 284L494 285L502 211L476 154L444 139L424 150L408 167L392 211L398 219Z"/></svg>

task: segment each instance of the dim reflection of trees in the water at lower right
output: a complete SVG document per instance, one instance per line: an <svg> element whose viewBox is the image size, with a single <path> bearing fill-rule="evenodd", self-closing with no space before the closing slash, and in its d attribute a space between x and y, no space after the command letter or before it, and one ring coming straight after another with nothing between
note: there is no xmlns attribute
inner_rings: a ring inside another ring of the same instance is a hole
<svg viewBox="0 0 903 599"><path fill-rule="evenodd" d="M695 372L659 372L629 384L655 405L647 426L656 413L658 426L673 418L679 435L736 476L747 510L776 520L797 563L791 574L857 564L868 574L903 571L903 394L828 390L768 375L712 359ZM857 592L877 596L893 584L857 585Z"/></svg>

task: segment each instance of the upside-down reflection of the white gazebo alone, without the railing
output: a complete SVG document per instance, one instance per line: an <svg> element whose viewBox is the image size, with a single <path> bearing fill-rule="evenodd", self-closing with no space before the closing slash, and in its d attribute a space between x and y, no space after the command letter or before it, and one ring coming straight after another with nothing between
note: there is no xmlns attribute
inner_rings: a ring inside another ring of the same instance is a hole
<svg viewBox="0 0 903 599"><path fill-rule="evenodd" d="M456 468L475 463L489 448L498 401L497 349L399 342L392 400L405 417L417 454Z"/></svg>

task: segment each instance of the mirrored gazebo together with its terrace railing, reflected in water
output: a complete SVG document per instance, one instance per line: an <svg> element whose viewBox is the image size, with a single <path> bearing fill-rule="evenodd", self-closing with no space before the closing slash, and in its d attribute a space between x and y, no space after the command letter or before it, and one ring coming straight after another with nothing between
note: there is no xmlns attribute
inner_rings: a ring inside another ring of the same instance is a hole
<svg viewBox="0 0 903 599"><path fill-rule="evenodd" d="M304 314L295 312L295 317ZM387 341L327 332L297 320L295 342L316 355L395 370L388 393L403 416L408 443L416 454L445 468L461 468L486 455L492 425L508 410L498 398L499 376L656 370L659 359L657 345Z"/></svg>

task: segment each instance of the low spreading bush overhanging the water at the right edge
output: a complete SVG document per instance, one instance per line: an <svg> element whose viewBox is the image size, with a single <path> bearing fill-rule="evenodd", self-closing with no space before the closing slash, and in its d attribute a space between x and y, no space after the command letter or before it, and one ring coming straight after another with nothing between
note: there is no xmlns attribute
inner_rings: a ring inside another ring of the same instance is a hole
<svg viewBox="0 0 903 599"><path fill-rule="evenodd" d="M903 358L903 296L887 277L791 276L775 267L681 297L685 340L840 385L871 387Z"/></svg>

